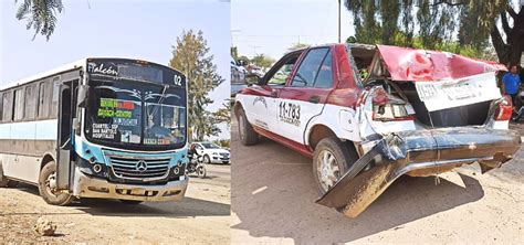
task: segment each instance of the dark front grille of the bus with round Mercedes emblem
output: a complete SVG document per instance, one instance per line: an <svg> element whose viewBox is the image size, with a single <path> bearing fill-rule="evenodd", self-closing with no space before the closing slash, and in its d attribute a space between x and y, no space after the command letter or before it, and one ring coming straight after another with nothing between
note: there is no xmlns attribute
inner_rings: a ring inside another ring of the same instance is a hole
<svg viewBox="0 0 524 245"><path fill-rule="evenodd" d="M169 158L137 159L107 156L117 178L128 180L155 181L169 173Z"/></svg>

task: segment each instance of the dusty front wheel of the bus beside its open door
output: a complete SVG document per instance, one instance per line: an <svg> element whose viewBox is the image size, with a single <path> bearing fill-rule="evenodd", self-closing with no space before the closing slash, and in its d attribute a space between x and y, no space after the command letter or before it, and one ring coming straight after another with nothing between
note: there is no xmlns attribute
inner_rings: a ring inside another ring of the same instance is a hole
<svg viewBox="0 0 524 245"><path fill-rule="evenodd" d="M39 191L42 199L52 205L70 204L74 196L56 190L56 163L50 161L40 171Z"/></svg>

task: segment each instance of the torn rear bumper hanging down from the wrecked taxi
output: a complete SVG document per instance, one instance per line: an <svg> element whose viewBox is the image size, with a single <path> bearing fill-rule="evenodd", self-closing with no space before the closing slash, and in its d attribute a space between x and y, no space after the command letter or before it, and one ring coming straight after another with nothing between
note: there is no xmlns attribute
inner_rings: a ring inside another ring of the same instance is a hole
<svg viewBox="0 0 524 245"><path fill-rule="evenodd" d="M391 134L316 203L356 217L405 173L429 175L475 161L485 172L512 159L520 146L521 136L514 130L459 127Z"/></svg>

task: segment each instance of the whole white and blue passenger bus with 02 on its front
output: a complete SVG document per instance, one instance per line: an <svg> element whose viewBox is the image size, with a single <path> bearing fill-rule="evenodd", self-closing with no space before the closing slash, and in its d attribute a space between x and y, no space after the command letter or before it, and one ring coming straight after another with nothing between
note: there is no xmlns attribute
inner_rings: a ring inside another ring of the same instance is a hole
<svg viewBox="0 0 524 245"><path fill-rule="evenodd" d="M0 87L0 188L45 202L177 201L188 184L187 83L129 58L84 58Z"/></svg>

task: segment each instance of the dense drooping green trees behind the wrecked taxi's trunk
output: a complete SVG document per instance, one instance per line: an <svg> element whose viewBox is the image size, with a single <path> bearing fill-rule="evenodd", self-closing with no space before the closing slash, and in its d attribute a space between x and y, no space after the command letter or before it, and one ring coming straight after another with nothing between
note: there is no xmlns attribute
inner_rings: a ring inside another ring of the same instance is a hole
<svg viewBox="0 0 524 245"><path fill-rule="evenodd" d="M346 0L345 6L353 13L356 33L348 42L446 46L455 53L481 54L491 38L504 64L516 63L524 51L524 8L516 0Z"/></svg>

